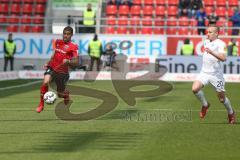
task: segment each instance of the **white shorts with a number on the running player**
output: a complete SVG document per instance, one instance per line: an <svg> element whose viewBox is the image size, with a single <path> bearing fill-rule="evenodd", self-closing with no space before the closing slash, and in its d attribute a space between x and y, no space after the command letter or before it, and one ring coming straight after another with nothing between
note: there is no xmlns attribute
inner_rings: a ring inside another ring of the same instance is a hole
<svg viewBox="0 0 240 160"><path fill-rule="evenodd" d="M208 83L210 83L217 92L225 92L225 80L223 78L223 74L216 73L216 74L209 74L201 72L197 76L197 80L202 82L204 86L206 86Z"/></svg>

